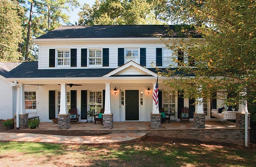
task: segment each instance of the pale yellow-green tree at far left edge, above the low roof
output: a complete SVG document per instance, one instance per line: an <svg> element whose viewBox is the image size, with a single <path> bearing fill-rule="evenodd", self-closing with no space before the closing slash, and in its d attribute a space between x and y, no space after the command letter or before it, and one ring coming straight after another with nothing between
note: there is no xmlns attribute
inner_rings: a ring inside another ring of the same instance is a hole
<svg viewBox="0 0 256 167"><path fill-rule="evenodd" d="M0 61L18 61L24 10L16 1L0 0Z"/></svg>

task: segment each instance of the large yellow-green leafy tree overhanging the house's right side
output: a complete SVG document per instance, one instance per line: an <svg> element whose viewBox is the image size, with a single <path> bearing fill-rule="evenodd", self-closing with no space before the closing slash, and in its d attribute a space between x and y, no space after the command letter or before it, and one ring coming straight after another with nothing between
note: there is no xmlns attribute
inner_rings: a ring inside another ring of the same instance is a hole
<svg viewBox="0 0 256 167"><path fill-rule="evenodd" d="M256 1L170 0L168 6L170 20L196 29L182 28L182 33L200 33L204 39L189 37L190 42L166 43L175 51L174 62L179 67L170 65L167 72L160 71L168 77L164 83L185 90L185 97L213 99L217 90L218 98L223 99L232 92L227 105L237 105L243 99L255 103ZM244 88L247 96L239 96Z"/></svg>

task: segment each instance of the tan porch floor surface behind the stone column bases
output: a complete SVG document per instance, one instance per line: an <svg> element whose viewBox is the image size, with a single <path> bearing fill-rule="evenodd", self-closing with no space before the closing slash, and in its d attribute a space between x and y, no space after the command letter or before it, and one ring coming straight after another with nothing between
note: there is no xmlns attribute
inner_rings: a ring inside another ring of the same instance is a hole
<svg viewBox="0 0 256 167"><path fill-rule="evenodd" d="M192 130L196 129L194 122L164 122L161 124L161 130ZM206 121L205 129L236 129L236 124L229 121ZM33 130L33 129L26 129ZM39 128L36 130L58 130L58 124L53 122L40 122ZM103 129L101 122L79 122L70 123L70 129L68 130L106 130ZM111 131L140 131L140 130L151 130L150 122L113 122L113 129Z"/></svg>

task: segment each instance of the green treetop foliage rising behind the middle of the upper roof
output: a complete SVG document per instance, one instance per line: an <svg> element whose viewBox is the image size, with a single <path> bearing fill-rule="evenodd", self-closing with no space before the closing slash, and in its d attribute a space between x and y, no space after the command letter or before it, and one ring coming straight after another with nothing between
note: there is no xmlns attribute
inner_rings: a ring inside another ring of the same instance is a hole
<svg viewBox="0 0 256 167"><path fill-rule="evenodd" d="M79 25L163 24L166 0L96 0L93 7L84 3L79 12ZM160 8L160 6L162 8ZM159 17L158 17L159 16Z"/></svg>

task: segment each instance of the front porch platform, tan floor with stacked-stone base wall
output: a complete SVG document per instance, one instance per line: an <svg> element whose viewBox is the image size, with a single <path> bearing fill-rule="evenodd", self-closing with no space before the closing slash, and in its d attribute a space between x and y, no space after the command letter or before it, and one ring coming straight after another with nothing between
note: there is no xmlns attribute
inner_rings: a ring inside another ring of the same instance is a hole
<svg viewBox="0 0 256 167"><path fill-rule="evenodd" d="M58 130L58 124L40 122L35 130ZM205 129L197 129L194 122L164 122L161 129L151 129L150 122L113 122L113 129L103 129L100 122L71 123L70 129L61 131L83 131L84 133L147 133L148 136L163 136L176 139L197 139L204 142L220 142L244 145L244 128L236 127L229 121L206 121ZM22 130L29 133L32 129ZM248 134L248 143L250 142Z"/></svg>

